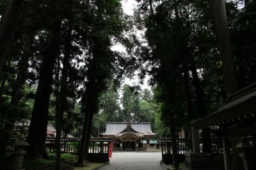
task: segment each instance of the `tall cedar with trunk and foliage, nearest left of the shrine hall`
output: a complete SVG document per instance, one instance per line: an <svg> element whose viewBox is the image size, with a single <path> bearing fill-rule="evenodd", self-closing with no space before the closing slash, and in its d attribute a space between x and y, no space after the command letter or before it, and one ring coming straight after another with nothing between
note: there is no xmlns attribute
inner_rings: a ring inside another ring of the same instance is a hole
<svg viewBox="0 0 256 170"><path fill-rule="evenodd" d="M116 71L115 63L120 57L110 49L111 37L122 39L126 23L120 1L94 1L92 8L95 9L93 11L95 14L89 40L90 56L87 59L86 82L84 83L86 89L81 101L85 118L79 164L83 164L88 153L93 114L97 113L99 95L106 88L111 72Z"/></svg>

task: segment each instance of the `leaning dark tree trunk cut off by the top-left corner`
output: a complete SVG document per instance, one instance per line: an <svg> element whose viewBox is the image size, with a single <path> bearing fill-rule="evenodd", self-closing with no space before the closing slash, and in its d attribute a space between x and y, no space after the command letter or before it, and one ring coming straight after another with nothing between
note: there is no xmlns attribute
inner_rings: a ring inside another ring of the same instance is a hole
<svg viewBox="0 0 256 170"><path fill-rule="evenodd" d="M3 64L6 58L6 52L12 39L12 33L15 27L15 20L19 15L21 0L11 0L4 12L3 20L0 26L0 75L3 71Z"/></svg>

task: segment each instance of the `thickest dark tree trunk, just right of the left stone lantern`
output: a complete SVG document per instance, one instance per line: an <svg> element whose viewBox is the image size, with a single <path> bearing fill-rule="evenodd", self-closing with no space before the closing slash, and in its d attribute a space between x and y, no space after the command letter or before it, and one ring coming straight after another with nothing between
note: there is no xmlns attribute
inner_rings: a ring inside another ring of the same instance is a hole
<svg viewBox="0 0 256 170"><path fill-rule="evenodd" d="M51 20L51 30L48 36L48 47L42 59L40 77L36 90L35 103L28 132L28 155L47 158L45 138L47 132L49 100L51 95L52 74L54 62L60 49L61 20L56 16Z"/></svg>

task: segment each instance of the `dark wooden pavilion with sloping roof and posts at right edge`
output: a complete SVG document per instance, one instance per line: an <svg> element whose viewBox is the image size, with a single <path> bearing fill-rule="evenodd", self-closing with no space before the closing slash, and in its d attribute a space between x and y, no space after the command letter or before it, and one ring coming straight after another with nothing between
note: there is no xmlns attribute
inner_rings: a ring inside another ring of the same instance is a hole
<svg viewBox="0 0 256 170"><path fill-rule="evenodd" d="M222 137L223 143L223 158L225 170L236 169L232 167L231 147L228 142L228 137L254 136L252 142L248 141L254 148L250 150L250 160L256 162L255 155L255 135L256 135L256 82L250 84L236 93L233 93L227 98L227 104L221 107L220 110L205 116L196 121L192 121L191 127L196 129L211 128L211 132ZM234 154L235 151L232 151ZM253 157L252 157L253 155ZM236 156L236 155L235 155ZM237 164L237 162L233 162ZM233 164L233 165L234 165ZM246 169L244 165L244 169ZM256 165L255 165L256 167ZM247 168L248 169L248 168Z"/></svg>

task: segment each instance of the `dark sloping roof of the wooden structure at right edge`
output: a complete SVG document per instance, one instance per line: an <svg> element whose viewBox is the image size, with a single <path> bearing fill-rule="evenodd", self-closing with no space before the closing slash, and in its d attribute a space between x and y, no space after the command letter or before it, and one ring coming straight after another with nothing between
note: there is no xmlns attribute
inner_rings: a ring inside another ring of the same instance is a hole
<svg viewBox="0 0 256 170"><path fill-rule="evenodd" d="M190 125L196 128L211 126L227 126L241 120L255 119L256 114L256 82L246 86L228 97L227 104L221 109L204 118L191 121Z"/></svg>

